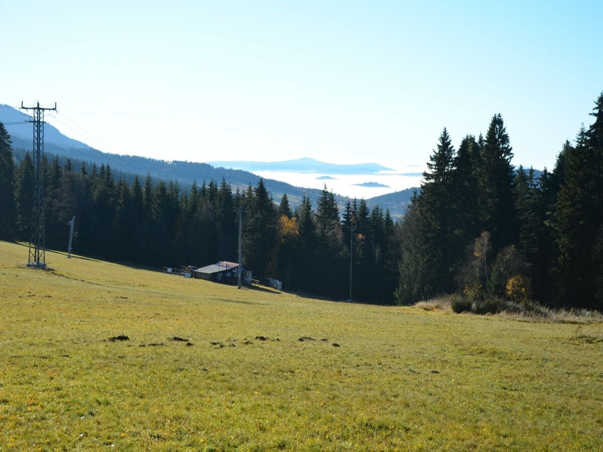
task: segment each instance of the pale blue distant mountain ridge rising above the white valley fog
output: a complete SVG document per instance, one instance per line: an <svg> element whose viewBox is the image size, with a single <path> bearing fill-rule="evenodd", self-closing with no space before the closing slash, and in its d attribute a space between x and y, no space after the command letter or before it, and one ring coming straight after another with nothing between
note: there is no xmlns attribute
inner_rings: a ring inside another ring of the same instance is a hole
<svg viewBox="0 0 603 452"><path fill-rule="evenodd" d="M223 168L244 169L245 171L293 171L322 174L370 175L382 171L394 171L378 163L356 163L353 165L326 163L319 160L302 157L301 159L282 160L281 162L252 162L248 160L207 162L212 166Z"/></svg>

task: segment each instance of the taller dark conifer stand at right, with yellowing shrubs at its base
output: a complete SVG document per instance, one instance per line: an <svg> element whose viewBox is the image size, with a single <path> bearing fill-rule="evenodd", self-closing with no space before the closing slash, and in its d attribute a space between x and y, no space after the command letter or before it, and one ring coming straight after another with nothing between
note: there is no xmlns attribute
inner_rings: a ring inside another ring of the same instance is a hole
<svg viewBox="0 0 603 452"><path fill-rule="evenodd" d="M459 310L603 309L603 93L552 172L511 165L500 115L458 149L446 128L400 225L399 303L456 293Z"/></svg>

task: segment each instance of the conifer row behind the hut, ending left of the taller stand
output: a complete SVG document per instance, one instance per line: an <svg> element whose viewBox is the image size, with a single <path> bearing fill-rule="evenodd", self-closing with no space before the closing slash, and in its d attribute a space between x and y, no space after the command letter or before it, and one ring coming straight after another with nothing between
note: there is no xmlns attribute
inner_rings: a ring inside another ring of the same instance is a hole
<svg viewBox="0 0 603 452"><path fill-rule="evenodd" d="M0 238L27 242L33 160L27 152L14 165L10 136L1 123L0 135ZM326 187L315 206L304 196L292 209L286 195L277 205L261 179L246 190L233 191L224 179L182 190L174 181L154 181L150 175L128 183L122 174L113 177L109 165L84 162L74 168L72 160L61 164L58 157L42 165L49 249L66 248L67 224L75 216L76 254L154 267L236 262L241 210L244 265L254 277L279 278L287 290L348 298L352 259L353 298L394 302L396 225L388 211L369 209L364 199L348 202L341 216Z"/></svg>

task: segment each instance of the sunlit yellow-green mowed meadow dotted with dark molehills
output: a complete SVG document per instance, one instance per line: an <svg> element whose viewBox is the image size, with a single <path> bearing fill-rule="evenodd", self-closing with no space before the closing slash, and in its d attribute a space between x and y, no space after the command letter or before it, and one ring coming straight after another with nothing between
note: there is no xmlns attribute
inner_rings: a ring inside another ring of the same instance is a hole
<svg viewBox="0 0 603 452"><path fill-rule="evenodd" d="M600 323L46 260L0 242L0 450L603 448Z"/></svg>

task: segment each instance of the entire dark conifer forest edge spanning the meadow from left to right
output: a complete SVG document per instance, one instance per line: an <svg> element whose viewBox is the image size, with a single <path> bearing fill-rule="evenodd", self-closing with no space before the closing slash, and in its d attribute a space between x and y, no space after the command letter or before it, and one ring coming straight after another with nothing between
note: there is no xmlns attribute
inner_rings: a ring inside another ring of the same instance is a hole
<svg viewBox="0 0 603 452"><path fill-rule="evenodd" d="M455 293L459 310L510 300L603 309L603 94L595 119L567 141L552 172L511 164L502 116L458 149L446 128L402 221L364 199L338 206L326 187L292 209L259 180L245 190L203 182L115 178L109 165L43 161L46 245L148 266L203 266L237 258L287 290L371 303L412 304ZM0 238L30 238L33 162L14 164L0 123ZM341 213L340 215L340 212ZM489 304L488 304L489 303ZM464 306L464 308L463 308Z"/></svg>

